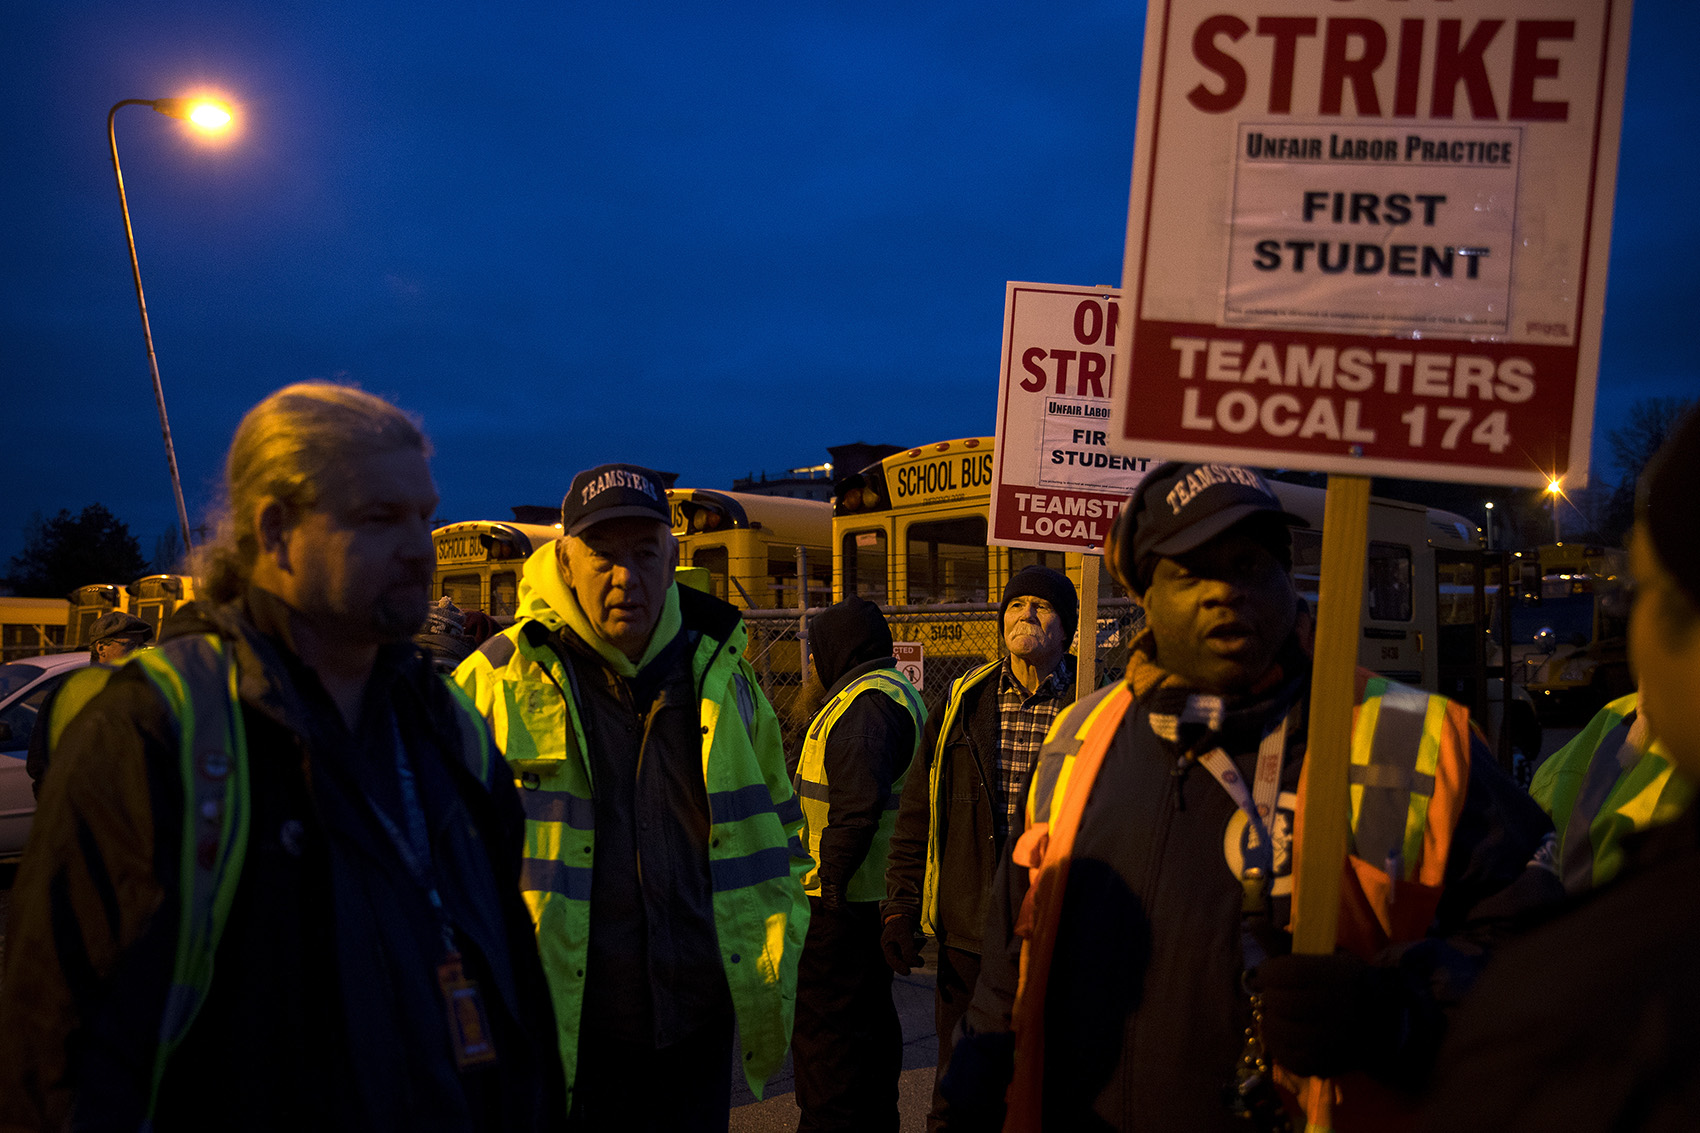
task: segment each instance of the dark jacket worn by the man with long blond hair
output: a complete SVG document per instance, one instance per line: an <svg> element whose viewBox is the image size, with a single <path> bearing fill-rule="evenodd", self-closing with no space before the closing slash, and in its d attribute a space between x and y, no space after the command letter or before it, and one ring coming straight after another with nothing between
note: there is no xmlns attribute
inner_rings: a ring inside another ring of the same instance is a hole
<svg viewBox="0 0 1700 1133"><path fill-rule="evenodd" d="M524 820L500 757L479 783L447 686L411 645L379 652L350 733L284 646L264 592L184 607L240 674L250 825L214 976L167 1063L156 1128L530 1130L559 1118L554 1024L518 897ZM389 730L394 720L396 732ZM177 721L134 665L66 728L19 869L0 983L0 1126L134 1130L180 905ZM425 890L374 805L413 769L435 885L498 1062L461 1073Z"/></svg>

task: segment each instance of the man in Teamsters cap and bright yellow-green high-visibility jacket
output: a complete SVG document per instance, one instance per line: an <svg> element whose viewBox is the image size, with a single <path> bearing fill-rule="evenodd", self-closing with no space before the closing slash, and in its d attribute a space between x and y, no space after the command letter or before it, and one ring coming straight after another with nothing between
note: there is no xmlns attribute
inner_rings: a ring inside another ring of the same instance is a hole
<svg viewBox="0 0 1700 1133"><path fill-rule="evenodd" d="M673 580L660 473L578 473L561 532L456 682L522 786L570 1124L724 1130L734 1033L756 1096L790 1045L809 919L779 721L738 609Z"/></svg>

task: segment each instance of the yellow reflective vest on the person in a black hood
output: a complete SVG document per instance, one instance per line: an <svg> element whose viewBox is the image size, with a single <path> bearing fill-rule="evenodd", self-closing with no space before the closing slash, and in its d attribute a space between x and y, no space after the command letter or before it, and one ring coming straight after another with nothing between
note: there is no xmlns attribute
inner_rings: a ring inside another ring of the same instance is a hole
<svg viewBox="0 0 1700 1133"><path fill-rule="evenodd" d="M891 781L891 796L886 800L886 810L879 817L874 842L867 849L867 857L862 859L855 874L850 876L843 895L850 902L877 902L886 897L886 859L891 856L891 832L898 825L898 803L903 798L903 784L908 779L910 766L915 762L915 754L921 749L921 728L926 723L921 694L896 669L876 669L845 686L814 716L814 723L802 740L802 754L797 757L797 776L792 784L796 786L797 798L802 800L804 845L809 851L809 857L814 859L814 864L802 876L802 891L811 897L818 897L821 891L821 835L826 832L830 817L828 800L831 798L831 786L826 781L826 740L833 732L833 725L838 723L850 709L850 704L864 692L884 692L901 704L915 723L915 743L910 747L910 759L904 760L903 771Z"/></svg>

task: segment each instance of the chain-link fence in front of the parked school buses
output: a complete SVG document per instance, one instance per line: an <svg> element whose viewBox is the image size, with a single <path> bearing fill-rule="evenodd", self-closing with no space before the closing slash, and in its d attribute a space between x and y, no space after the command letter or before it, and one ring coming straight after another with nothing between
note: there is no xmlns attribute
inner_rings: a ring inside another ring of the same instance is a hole
<svg viewBox="0 0 1700 1133"><path fill-rule="evenodd" d="M1003 643L998 607L988 602L952 606L886 606L892 641L921 646L921 699L928 716L942 713L957 677L996 660ZM824 689L811 691L802 662L808 619L819 609L746 609L746 657L762 691L779 713L785 754L796 760L802 733L821 708ZM1127 599L1098 604L1098 686L1119 680L1127 667L1127 645L1144 626L1144 611Z"/></svg>

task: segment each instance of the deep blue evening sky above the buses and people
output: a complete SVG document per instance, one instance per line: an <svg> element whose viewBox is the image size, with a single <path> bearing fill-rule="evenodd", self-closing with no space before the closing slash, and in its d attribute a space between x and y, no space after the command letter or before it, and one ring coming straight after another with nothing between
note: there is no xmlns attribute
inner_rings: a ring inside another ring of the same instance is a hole
<svg viewBox="0 0 1700 1133"><path fill-rule="evenodd" d="M0 5L0 570L32 512L175 524L107 107L190 517L241 412L394 398L445 519L632 459L726 487L991 432L1003 284L1120 282L1144 5ZM1600 439L1700 391L1700 5L1640 0Z"/></svg>

